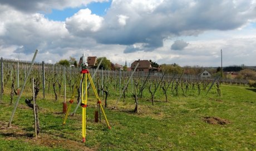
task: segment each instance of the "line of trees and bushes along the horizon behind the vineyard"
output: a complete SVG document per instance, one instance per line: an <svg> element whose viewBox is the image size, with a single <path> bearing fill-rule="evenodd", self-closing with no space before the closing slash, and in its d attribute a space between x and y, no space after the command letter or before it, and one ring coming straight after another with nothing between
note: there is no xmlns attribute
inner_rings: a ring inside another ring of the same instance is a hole
<svg viewBox="0 0 256 151"><path fill-rule="evenodd" d="M102 63L100 64L100 69L109 70L109 71L115 71L117 68L115 67L114 63L112 63L109 59L106 57L100 57L97 58L96 66L98 66L99 62L102 60ZM256 80L256 71L253 69L244 69L244 66L230 66L230 67L224 67L223 73L221 74L221 68L214 68L214 67L199 67L199 66L185 66L181 67L179 64L173 63L173 64L157 64L156 62L149 60L151 62L151 67L157 68L157 71L155 72L161 72L161 73L171 73L171 74L188 74L188 75L200 75L205 70L208 71L211 74L211 77L216 77L222 75L223 78L228 79L246 79L246 80ZM64 59L56 64L61 64L63 66L78 66L78 63L75 58L70 57L69 60ZM93 68L93 67L92 67ZM127 71L127 65L122 66L122 69L124 71ZM229 73L230 72L230 73Z"/></svg>

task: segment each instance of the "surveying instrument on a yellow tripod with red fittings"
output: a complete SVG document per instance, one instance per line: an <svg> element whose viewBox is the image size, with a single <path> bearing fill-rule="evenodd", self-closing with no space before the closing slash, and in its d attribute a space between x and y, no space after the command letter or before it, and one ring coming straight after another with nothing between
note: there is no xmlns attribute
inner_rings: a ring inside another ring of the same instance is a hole
<svg viewBox="0 0 256 151"><path fill-rule="evenodd" d="M109 121L107 120L104 109L101 105L101 100L99 98L99 95L97 94L97 90L95 88L95 85L93 84L93 81L92 81L91 75L89 73L89 70L87 69L88 64L86 62L85 53L83 53L83 56L80 58L80 62L81 62L81 64L80 64L80 66L81 66L80 78L78 78L78 80L75 84L75 88L81 82L82 142L85 142L85 137L86 137L86 107L87 107L87 93L88 93L87 92L87 90L88 90L87 89L87 84L88 84L87 79L89 79L89 81L92 85L93 92L94 92L94 94L96 96L96 99L97 99L97 104L99 104L100 109L102 110L102 113L103 113L104 118L105 118L106 123L107 123L107 127L109 127L109 129L111 129L111 127L109 125ZM85 93L83 93L84 88L85 88ZM71 105L74 102L74 98L75 98L75 90L73 90L72 97L69 101L70 104L68 105L67 112L66 112L65 118L63 120L63 125L66 124L68 112L70 111Z"/></svg>

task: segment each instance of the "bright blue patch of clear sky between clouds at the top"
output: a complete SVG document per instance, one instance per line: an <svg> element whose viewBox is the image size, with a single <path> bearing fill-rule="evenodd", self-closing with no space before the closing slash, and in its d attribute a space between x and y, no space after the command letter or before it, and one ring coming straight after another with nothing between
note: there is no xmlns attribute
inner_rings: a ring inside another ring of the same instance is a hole
<svg viewBox="0 0 256 151"><path fill-rule="evenodd" d="M66 18L73 16L80 9L88 8L92 11L93 14L98 16L104 16L106 14L107 8L110 8L111 1L109 2L92 2L87 6L76 7L76 8L65 8L63 10L52 9L51 13L44 13L45 17L53 21L65 21Z"/></svg>

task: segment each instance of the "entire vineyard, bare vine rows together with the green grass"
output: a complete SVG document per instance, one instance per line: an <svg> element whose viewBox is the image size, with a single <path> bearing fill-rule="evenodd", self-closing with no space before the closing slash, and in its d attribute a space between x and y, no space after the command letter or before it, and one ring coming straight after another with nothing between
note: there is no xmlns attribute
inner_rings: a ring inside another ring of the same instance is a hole
<svg viewBox="0 0 256 151"><path fill-rule="evenodd" d="M89 69L112 129L106 128L101 114L101 122L94 122L94 112L99 107L88 85L88 138L86 144L82 144L81 110L78 108L82 92L76 87L80 68L34 63L27 77L30 66L31 62L1 60L2 150L256 148L256 132L252 129L256 127L255 89L248 87L247 80ZM6 128L26 77L13 128ZM38 138L33 138L32 109L25 102L31 99L34 89L38 94L36 103L41 127ZM76 100L71 108L72 116L62 126L62 103L66 100L68 103L73 93ZM19 146L23 142L25 144Z"/></svg>

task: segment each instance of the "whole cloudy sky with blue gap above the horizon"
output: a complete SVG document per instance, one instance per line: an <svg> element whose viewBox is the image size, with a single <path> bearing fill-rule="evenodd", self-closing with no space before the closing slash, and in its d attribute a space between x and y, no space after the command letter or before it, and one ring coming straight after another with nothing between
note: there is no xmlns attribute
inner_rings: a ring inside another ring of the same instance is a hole
<svg viewBox="0 0 256 151"><path fill-rule="evenodd" d="M0 0L0 57L256 66L256 0Z"/></svg>

